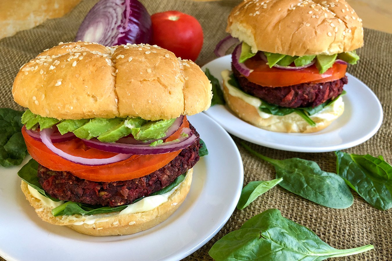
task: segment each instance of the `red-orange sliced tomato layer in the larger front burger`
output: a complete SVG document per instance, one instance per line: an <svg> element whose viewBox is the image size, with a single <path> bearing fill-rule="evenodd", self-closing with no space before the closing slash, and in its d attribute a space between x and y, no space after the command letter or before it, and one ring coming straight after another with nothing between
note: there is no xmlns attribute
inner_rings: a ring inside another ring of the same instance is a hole
<svg viewBox="0 0 392 261"><path fill-rule="evenodd" d="M181 130L188 127L189 122L184 117L183 124L178 131L168 137L166 141L177 139L180 137ZM181 151L157 155L132 155L130 158L120 162L102 166L85 166L70 162L53 153L44 143L34 140L28 135L25 131L25 126L22 128L22 134L26 142L27 151L39 164L54 171L70 171L79 178L92 181L113 182L140 178L165 166ZM109 158L116 155L116 153L89 148L80 139L73 139L54 145L66 153L85 158Z"/></svg>

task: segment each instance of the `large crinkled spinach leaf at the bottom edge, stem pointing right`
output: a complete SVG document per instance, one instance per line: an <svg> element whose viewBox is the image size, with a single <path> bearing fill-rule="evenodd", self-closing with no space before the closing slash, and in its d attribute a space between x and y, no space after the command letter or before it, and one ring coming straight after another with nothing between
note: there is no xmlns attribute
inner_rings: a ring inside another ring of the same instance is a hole
<svg viewBox="0 0 392 261"><path fill-rule="evenodd" d="M340 250L322 241L314 232L269 209L250 218L239 230L219 239L208 252L220 260L303 260L359 254L372 245Z"/></svg>

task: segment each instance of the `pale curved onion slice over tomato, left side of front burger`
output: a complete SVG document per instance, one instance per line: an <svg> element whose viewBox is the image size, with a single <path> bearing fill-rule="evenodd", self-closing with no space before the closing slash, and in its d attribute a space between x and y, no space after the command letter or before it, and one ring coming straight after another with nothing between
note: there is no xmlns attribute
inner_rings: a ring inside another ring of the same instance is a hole
<svg viewBox="0 0 392 261"><path fill-rule="evenodd" d="M114 162L119 162L131 157L131 155L127 155L127 154L118 154L110 158L83 158L83 157L73 156L62 151L61 149L56 148L53 145L53 142L51 140L52 134L53 134L52 128L47 128L40 131L40 138L42 140L42 143L44 143L48 147L48 149L56 153L56 155L76 164L87 165L87 166L98 166L98 165L105 165Z"/></svg>

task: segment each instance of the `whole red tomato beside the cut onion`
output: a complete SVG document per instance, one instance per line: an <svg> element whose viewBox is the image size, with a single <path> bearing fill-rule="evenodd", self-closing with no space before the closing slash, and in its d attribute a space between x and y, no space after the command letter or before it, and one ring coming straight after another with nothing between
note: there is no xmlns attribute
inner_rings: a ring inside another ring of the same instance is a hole
<svg viewBox="0 0 392 261"><path fill-rule="evenodd" d="M189 14L166 11L151 16L152 44L165 48L177 57L195 61L203 46L203 29Z"/></svg>

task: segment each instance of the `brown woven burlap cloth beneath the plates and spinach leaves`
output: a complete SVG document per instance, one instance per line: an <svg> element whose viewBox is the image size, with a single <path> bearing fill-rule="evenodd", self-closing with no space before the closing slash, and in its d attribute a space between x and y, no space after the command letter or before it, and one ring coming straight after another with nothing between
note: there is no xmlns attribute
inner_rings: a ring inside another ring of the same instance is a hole
<svg viewBox="0 0 392 261"><path fill-rule="evenodd" d="M57 45L60 41L71 41L85 14L97 0L85 0L63 18L49 20L33 29L0 40L0 107L22 109L11 95L13 78L19 67L43 49ZM214 59L212 50L223 38L226 18L239 1L191 2L186 0L142 1L153 14L166 10L179 10L198 18L204 30L204 45L197 60L203 65ZM347 149L350 153L383 155L392 162L392 34L365 30L365 47L359 50L358 65L349 66L349 72L368 85L379 97L384 110L384 122L377 134L367 142ZM355 92L356 90L350 90ZM367 110L363 104L363 110ZM363 122L363 124L367 124ZM239 144L240 139L233 137ZM208 146L208 144L207 144ZM212 145L210 145L212 146ZM251 145L271 158L299 157L318 162L324 171L334 172L334 153L294 153ZM244 183L251 180L270 180L274 169L269 164L251 156L239 146L245 168ZM223 159L224 160L224 159ZM230 159L227 159L230 160ZM214 175L214 173L209 173ZM250 217L266 209L278 208L283 216L312 229L316 234L336 248L353 248L373 244L374 250L356 256L335 260L392 260L391 211L378 211L354 193L354 204L348 209L328 209L304 200L280 187L265 193L246 209L235 210L221 231L187 260L211 260L208 250L212 244L232 230L239 229ZM23 251L23 250L21 250ZM4 260L1 259L0 260Z"/></svg>

